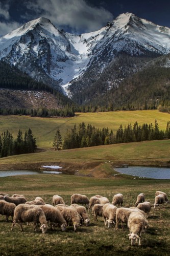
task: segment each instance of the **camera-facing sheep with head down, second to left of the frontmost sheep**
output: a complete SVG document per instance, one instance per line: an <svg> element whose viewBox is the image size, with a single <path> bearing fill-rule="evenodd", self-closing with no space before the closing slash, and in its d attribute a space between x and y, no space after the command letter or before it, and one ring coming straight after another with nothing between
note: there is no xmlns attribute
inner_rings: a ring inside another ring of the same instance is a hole
<svg viewBox="0 0 170 256"><path fill-rule="evenodd" d="M103 205L103 219L105 225L108 223L108 228L110 228L112 224L115 224L116 210L117 207L113 204L107 203Z"/></svg>

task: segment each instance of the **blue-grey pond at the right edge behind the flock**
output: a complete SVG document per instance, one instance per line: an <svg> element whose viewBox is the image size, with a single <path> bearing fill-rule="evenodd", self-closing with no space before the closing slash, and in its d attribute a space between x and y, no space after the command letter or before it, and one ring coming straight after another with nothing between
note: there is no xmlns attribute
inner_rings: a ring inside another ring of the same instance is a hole
<svg viewBox="0 0 170 256"><path fill-rule="evenodd" d="M128 168L114 169L119 173L138 176L140 178L170 179L170 168L167 167L129 166Z"/></svg>

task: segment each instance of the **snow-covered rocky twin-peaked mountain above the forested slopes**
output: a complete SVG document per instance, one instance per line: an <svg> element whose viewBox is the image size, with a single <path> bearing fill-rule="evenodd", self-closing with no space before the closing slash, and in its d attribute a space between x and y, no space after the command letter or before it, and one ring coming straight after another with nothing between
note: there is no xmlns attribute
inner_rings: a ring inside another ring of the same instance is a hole
<svg viewBox="0 0 170 256"><path fill-rule="evenodd" d="M118 88L169 52L170 29L132 13L81 35L59 30L41 17L0 38L0 59L80 104Z"/></svg>

